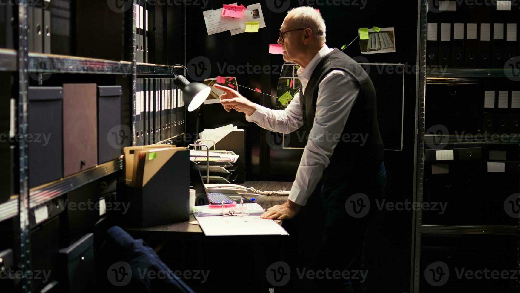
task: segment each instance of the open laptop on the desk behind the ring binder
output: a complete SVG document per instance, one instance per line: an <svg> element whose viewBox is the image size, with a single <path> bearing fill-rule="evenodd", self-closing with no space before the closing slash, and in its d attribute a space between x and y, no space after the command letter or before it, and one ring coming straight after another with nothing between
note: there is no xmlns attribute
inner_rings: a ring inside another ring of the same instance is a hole
<svg viewBox="0 0 520 293"><path fill-rule="evenodd" d="M224 188L226 192L207 192L206 187L204 186L204 181L202 180L202 176L200 174L199 165L196 162L190 160L190 179L191 186L195 189L195 193L197 194L197 198L195 200L196 206L205 206L211 204L222 204L224 203L232 203L236 201L240 203L240 200L243 199L244 203L252 203L253 201L241 196L238 193L229 193L227 192L229 188ZM214 184L212 184L214 185ZM220 186L223 187L232 187L233 184L222 184ZM212 188L214 190L214 188Z"/></svg>

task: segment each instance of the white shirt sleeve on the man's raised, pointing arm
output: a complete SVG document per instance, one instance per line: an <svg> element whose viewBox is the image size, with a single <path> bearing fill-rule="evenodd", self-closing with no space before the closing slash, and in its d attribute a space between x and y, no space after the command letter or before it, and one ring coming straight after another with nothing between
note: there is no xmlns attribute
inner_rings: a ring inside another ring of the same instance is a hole
<svg viewBox="0 0 520 293"><path fill-rule="evenodd" d="M245 120L270 131L291 133L303 125L300 94L294 95L285 110L272 110L257 104L256 110L251 116L246 115Z"/></svg>

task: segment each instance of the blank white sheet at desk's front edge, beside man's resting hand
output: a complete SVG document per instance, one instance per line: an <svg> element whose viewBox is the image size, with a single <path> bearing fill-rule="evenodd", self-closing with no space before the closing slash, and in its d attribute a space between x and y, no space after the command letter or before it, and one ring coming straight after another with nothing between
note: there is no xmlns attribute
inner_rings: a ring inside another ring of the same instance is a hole
<svg viewBox="0 0 520 293"><path fill-rule="evenodd" d="M273 220L259 216L198 216L199 225L206 236L231 235L289 235Z"/></svg>

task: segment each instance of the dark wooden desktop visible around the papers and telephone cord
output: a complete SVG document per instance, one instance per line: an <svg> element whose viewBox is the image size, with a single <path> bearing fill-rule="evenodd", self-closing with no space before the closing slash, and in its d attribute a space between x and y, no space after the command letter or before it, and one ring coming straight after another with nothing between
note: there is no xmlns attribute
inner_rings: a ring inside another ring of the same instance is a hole
<svg viewBox="0 0 520 293"><path fill-rule="evenodd" d="M271 190L291 190L292 182L271 182L271 181L246 181L243 184L245 187L254 187L262 191ZM251 198L253 196L245 196ZM287 196L262 196L259 197L256 202L261 205L264 209L267 209L274 205L279 205L287 200ZM195 216L190 215L189 221L178 222L172 224L165 224L153 227L126 229L130 234L140 234L147 232L178 232L178 233L203 233L199 225L190 224L189 222L195 221Z"/></svg>

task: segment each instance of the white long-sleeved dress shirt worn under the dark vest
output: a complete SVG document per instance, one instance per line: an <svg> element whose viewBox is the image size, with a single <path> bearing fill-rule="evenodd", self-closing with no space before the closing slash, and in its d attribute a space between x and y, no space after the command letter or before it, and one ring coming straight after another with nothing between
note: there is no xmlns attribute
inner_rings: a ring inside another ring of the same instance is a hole
<svg viewBox="0 0 520 293"><path fill-rule="evenodd" d="M298 79L302 82L304 94L305 87L318 62L332 50L324 45L306 68L298 69ZM307 145L296 173L296 180L294 180L289 194L289 199L301 206L305 206L307 199L321 179L323 169L329 165L329 159L339 140L338 137L345 128L348 115L356 103L360 90L353 78L341 70L333 70L328 73L318 87L313 128L309 133ZM303 126L300 94L294 95L285 110L272 110L256 105L256 110L251 116L245 118L270 131L291 133Z"/></svg>

